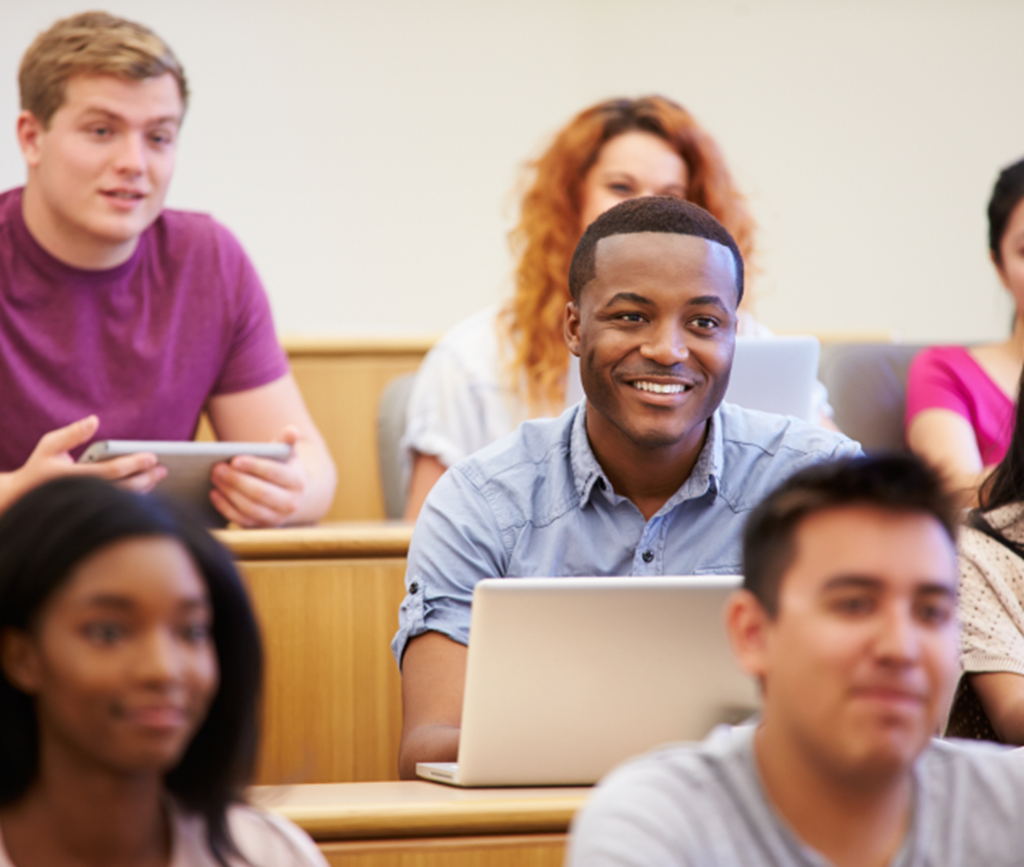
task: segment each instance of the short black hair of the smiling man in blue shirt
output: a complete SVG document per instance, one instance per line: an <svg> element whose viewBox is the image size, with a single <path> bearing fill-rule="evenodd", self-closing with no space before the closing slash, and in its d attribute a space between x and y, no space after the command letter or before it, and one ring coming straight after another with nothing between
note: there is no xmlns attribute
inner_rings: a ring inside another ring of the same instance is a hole
<svg viewBox="0 0 1024 867"><path fill-rule="evenodd" d="M643 196L621 202L587 226L569 264L569 292L580 303L583 288L597 276L597 243L613 234L641 231L690 234L728 248L736 270L736 303L743 297L743 256L729 230L699 205L671 196Z"/></svg>

